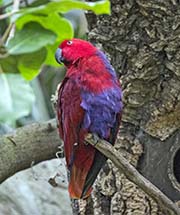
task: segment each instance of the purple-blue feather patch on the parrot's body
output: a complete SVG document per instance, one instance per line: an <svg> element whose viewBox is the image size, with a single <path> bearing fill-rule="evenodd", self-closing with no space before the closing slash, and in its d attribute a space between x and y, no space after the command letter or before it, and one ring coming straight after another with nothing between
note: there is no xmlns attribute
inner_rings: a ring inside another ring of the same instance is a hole
<svg viewBox="0 0 180 215"><path fill-rule="evenodd" d="M82 126L101 138L108 138L114 127L116 115L122 110L122 92L112 87L100 94L81 93L81 107L85 110Z"/></svg>

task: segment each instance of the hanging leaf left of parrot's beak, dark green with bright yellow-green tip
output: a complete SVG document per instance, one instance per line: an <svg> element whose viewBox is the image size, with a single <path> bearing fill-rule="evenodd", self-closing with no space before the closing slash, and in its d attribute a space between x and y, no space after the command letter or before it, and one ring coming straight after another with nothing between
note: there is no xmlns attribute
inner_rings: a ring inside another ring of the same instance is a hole
<svg viewBox="0 0 180 215"><path fill-rule="evenodd" d="M40 67L46 59L47 51L45 48L31 54L24 54L19 57L18 68L21 75L28 81L35 78Z"/></svg>

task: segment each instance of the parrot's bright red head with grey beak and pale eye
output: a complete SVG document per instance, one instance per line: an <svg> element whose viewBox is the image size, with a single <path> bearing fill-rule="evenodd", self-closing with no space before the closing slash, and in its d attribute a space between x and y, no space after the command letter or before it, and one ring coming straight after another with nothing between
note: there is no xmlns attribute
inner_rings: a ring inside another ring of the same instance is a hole
<svg viewBox="0 0 180 215"><path fill-rule="evenodd" d="M71 66L82 57L89 57L97 51L91 43L81 39L64 40L56 51L55 58L58 63Z"/></svg>

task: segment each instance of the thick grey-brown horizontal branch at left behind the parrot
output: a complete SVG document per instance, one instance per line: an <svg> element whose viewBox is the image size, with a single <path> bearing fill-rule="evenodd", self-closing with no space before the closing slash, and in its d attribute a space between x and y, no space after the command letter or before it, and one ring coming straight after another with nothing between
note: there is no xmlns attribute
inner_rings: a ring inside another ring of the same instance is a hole
<svg viewBox="0 0 180 215"><path fill-rule="evenodd" d="M55 158L58 146L62 142L55 120L24 126L13 134L0 136L0 183L32 164Z"/></svg>

